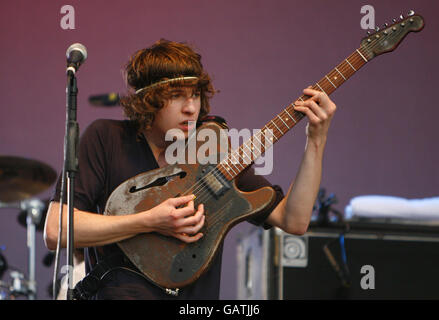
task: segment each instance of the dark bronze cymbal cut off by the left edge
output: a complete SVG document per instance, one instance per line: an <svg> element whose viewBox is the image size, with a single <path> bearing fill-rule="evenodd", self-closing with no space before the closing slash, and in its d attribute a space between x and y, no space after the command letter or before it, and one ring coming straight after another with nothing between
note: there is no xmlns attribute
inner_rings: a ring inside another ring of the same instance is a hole
<svg viewBox="0 0 439 320"><path fill-rule="evenodd" d="M37 160L0 156L0 201L16 202L47 190L57 174Z"/></svg>

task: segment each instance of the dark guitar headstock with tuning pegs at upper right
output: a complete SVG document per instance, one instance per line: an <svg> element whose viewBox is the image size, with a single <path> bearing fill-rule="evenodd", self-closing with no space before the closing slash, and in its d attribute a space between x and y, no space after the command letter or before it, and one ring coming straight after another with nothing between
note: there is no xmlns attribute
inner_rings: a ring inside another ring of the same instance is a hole
<svg viewBox="0 0 439 320"><path fill-rule="evenodd" d="M421 31L424 28L424 19L410 11L406 18L401 15L399 21L393 19L393 24L388 26L386 23L384 28L380 30L377 27L375 33L361 40L362 52L367 55L368 60L395 50L409 32Z"/></svg>

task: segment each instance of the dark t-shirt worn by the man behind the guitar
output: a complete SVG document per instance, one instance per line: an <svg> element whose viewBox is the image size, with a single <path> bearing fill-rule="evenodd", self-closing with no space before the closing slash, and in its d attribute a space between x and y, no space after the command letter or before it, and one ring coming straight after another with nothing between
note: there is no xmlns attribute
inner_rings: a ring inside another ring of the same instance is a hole
<svg viewBox="0 0 439 320"><path fill-rule="evenodd" d="M74 206L83 211L102 214L107 199L124 181L149 170L159 168L143 136L138 136L129 120L96 120L84 131L79 143L79 172L75 180ZM61 179L52 200L59 201ZM251 191L271 184L250 168L237 181L243 191ZM279 186L272 186L277 194L275 203L249 222L264 225L264 221L282 200ZM105 256L120 252L116 244L85 248L86 272ZM210 269L195 283L181 289L178 299L218 299L220 288L222 247ZM138 271L134 266L132 269ZM96 299L175 299L144 277L116 269L103 279Z"/></svg>

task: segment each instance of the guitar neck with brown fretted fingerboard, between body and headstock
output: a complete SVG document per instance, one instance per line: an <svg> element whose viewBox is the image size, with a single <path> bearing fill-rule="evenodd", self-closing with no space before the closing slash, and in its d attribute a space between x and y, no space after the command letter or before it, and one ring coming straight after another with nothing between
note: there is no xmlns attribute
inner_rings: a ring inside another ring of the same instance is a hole
<svg viewBox="0 0 439 320"><path fill-rule="evenodd" d="M368 62L368 56L362 48L358 48L312 88L327 95L332 94ZM295 101L305 101L308 98L309 96L302 95ZM290 103L260 131L221 161L217 165L217 170L228 180L233 180L304 117L305 114L294 110L294 102Z"/></svg>

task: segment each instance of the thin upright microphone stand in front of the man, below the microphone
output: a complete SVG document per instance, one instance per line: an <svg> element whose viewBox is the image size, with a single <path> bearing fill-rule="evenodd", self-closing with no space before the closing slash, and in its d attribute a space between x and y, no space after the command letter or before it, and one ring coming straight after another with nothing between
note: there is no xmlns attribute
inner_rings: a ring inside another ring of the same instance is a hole
<svg viewBox="0 0 439 320"><path fill-rule="evenodd" d="M64 168L67 175L67 300L73 300L73 202L75 190L75 174L78 172L78 137L79 126L76 121L78 88L76 86L75 73L70 69L67 71L66 88L66 134L64 138ZM62 204L61 204L62 205Z"/></svg>

